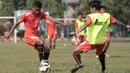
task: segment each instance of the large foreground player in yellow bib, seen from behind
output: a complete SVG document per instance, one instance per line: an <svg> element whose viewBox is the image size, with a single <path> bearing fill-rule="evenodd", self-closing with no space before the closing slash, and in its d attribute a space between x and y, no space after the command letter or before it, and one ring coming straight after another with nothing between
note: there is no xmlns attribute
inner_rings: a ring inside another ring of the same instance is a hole
<svg viewBox="0 0 130 73"><path fill-rule="evenodd" d="M94 49L96 49L96 54L99 55L102 73L106 72L105 54L103 51L106 42L106 29L110 22L113 22L115 19L109 13L101 13L100 5L100 1L92 1L90 3L90 11L92 13L87 15L86 23L77 32L71 33L78 34L87 27L87 40L79 44L73 52L77 65L71 70L71 73L76 73L79 68L84 66L80 54ZM126 27L124 24L121 25Z"/></svg>

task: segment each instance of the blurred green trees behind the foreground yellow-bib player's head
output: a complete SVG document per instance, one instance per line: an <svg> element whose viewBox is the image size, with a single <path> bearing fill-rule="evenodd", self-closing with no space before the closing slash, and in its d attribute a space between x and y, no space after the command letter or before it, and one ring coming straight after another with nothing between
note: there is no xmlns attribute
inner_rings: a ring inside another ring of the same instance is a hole
<svg viewBox="0 0 130 73"><path fill-rule="evenodd" d="M80 7L76 9L78 12L87 15L89 13L89 2L92 0L80 0ZM107 7L107 12L116 17L118 20L130 24L130 0L100 0L102 5Z"/></svg>

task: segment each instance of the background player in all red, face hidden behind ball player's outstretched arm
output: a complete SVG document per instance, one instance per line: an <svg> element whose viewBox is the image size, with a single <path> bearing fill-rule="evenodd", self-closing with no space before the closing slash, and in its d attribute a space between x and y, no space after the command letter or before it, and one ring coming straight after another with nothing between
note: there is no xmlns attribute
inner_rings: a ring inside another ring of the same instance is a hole
<svg viewBox="0 0 130 73"><path fill-rule="evenodd" d="M50 15L50 17L52 17L52 15ZM56 24L50 20L47 20L46 27L47 27L50 49L54 51L56 46L56 33L57 33Z"/></svg>

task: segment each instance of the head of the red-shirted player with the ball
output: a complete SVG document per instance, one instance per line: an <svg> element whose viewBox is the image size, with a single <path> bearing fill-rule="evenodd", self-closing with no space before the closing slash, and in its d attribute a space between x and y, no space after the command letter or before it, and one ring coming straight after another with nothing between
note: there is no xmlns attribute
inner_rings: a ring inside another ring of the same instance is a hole
<svg viewBox="0 0 130 73"><path fill-rule="evenodd" d="M40 1L35 1L35 2L33 3L32 11L33 11L33 14L34 14L35 16L37 16L37 15L40 13L41 7L42 7L42 3L41 3Z"/></svg>

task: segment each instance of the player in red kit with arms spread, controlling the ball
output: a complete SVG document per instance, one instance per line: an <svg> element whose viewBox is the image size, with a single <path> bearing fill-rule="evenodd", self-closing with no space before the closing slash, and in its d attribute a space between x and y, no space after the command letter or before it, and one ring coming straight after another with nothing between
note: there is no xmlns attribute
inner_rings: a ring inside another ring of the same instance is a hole
<svg viewBox="0 0 130 73"><path fill-rule="evenodd" d="M42 19L48 19L50 21L65 25L54 18L49 17L45 13L41 12L42 4L40 1L35 1L33 3L32 10L25 12L18 21L13 25L11 31L5 39L9 39L11 34L13 33L14 29L21 23L24 22L25 27L25 34L24 34L24 41L35 48L38 51L40 64L41 63L48 63L48 58L50 55L50 48L46 41L38 37L38 25L39 21Z"/></svg>

